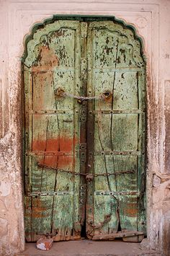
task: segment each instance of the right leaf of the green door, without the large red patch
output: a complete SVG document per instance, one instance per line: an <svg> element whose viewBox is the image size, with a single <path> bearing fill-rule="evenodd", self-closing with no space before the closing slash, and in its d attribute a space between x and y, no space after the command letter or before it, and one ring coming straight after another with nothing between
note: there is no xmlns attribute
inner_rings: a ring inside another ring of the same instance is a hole
<svg viewBox="0 0 170 256"><path fill-rule="evenodd" d="M120 235L137 242L146 233L146 69L140 41L122 25L91 22L87 49L87 96L109 95L88 107L94 144L88 146L91 139L87 138L87 151L94 149L94 164L89 160L87 166L94 180L87 184L87 236L114 239Z"/></svg>

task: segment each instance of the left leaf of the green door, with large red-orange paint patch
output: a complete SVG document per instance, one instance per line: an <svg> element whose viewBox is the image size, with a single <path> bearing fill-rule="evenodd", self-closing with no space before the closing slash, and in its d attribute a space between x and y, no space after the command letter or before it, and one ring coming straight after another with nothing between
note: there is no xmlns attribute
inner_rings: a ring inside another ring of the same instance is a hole
<svg viewBox="0 0 170 256"><path fill-rule="evenodd" d="M79 239L79 104L59 97L58 87L81 90L79 21L57 21L38 29L24 59L25 236L55 241ZM55 169L61 169L57 172Z"/></svg>

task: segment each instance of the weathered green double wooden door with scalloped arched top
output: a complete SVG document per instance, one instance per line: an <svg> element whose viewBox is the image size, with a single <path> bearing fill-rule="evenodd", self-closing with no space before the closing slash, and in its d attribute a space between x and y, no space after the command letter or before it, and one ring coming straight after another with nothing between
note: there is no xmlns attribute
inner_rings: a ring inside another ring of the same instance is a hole
<svg viewBox="0 0 170 256"><path fill-rule="evenodd" d="M145 221L145 63L111 20L37 27L24 67L27 241L140 241Z"/></svg>

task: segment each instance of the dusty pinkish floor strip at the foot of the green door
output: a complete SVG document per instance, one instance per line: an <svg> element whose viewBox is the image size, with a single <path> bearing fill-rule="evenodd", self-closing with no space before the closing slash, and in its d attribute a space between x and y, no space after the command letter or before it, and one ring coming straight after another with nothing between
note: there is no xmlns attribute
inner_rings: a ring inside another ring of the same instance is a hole
<svg viewBox="0 0 170 256"><path fill-rule="evenodd" d="M161 255L154 250L147 251L140 243L122 241L68 241L54 242L49 251L37 250L35 243L27 243L24 252L16 256L146 256Z"/></svg>

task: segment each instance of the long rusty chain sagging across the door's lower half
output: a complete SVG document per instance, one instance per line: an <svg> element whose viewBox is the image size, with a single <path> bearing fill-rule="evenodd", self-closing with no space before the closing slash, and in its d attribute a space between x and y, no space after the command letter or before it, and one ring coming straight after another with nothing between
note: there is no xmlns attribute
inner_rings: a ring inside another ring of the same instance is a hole
<svg viewBox="0 0 170 256"><path fill-rule="evenodd" d="M122 175L122 174L128 174L128 173L135 173L135 170L127 170L127 171L115 172L115 173L106 172L106 173L92 174L92 173L72 172L72 171L68 171L66 169L59 169L59 168L55 168L55 167L50 167L46 164L41 164L41 163L37 163L37 165L39 167L43 167L43 168L46 168L46 169L54 169L57 172L66 172L66 173L69 173L71 175L81 175L81 176L86 177L87 181L91 181L91 180L94 179L94 177L99 177L99 176L108 177L110 175Z"/></svg>

